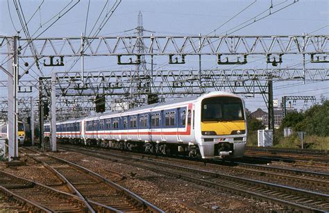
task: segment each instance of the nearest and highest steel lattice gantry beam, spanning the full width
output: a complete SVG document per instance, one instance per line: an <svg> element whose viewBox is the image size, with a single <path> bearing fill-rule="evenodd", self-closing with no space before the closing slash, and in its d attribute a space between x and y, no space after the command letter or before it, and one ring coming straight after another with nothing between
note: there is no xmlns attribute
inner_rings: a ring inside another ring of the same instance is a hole
<svg viewBox="0 0 329 213"><path fill-rule="evenodd" d="M81 38L85 41L81 43ZM328 35L122 36L32 38L37 58L50 56L182 56L328 53ZM5 44L8 37L0 37ZM19 57L33 58L26 39ZM138 51L144 44L144 53ZM60 61L58 61L60 62Z"/></svg>

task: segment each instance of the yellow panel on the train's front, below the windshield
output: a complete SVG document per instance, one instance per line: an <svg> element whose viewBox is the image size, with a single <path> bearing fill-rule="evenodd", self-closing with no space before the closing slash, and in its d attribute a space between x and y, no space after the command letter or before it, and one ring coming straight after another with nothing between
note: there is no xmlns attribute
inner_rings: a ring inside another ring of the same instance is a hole
<svg viewBox="0 0 329 213"><path fill-rule="evenodd" d="M230 135L234 130L246 130L244 121L205 121L201 131L214 131L216 135Z"/></svg>

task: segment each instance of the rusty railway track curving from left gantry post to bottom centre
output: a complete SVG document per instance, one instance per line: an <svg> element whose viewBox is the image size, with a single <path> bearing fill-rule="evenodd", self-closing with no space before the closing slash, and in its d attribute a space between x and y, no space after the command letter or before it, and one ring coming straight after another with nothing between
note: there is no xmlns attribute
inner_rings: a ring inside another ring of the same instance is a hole
<svg viewBox="0 0 329 213"><path fill-rule="evenodd" d="M53 171L86 205L99 203L101 207L113 212L162 212L158 207L97 173L58 157L40 154L30 148L27 150L32 153L26 155Z"/></svg>

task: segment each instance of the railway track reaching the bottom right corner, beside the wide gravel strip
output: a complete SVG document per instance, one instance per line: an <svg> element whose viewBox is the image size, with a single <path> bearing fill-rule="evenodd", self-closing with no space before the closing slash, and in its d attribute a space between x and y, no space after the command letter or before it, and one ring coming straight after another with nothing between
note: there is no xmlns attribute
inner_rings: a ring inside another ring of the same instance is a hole
<svg viewBox="0 0 329 213"><path fill-rule="evenodd" d="M327 194L276 185L269 182L250 180L247 178L228 176L201 169L182 167L172 162L156 162L154 160L146 160L140 157L131 157L127 155L123 156L110 152L104 154L83 150L83 148L78 148L76 146L74 148L68 148L67 146L60 147L69 151L76 151L78 153L99 157L104 160L115 160L122 164L129 164L163 173L167 176L194 182L197 185L230 191L250 198L257 198L261 201L271 201L272 203L289 207L292 210L302 210L305 212L326 212L329 210L329 196Z"/></svg>

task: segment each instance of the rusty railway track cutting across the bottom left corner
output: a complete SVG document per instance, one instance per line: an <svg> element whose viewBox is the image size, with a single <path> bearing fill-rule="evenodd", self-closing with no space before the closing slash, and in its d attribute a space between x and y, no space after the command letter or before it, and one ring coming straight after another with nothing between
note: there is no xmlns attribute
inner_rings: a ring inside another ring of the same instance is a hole
<svg viewBox="0 0 329 213"><path fill-rule="evenodd" d="M19 198L26 205L33 205L40 212L89 211L87 205L78 196L52 189L31 180L13 176L4 171L0 171L0 186L1 189L4 189L1 191L6 191L7 196L12 196L16 199ZM15 205L15 207L17 206ZM17 210L20 208L17 207Z"/></svg>

